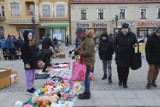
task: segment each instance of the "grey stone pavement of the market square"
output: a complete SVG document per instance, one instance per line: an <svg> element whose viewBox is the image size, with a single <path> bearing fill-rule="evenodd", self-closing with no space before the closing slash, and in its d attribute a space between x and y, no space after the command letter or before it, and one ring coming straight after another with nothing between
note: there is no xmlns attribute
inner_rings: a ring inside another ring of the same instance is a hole
<svg viewBox="0 0 160 107"><path fill-rule="evenodd" d="M73 46L64 47L64 53L66 53L65 59L53 59L53 62L70 62L71 58L68 57L68 51L73 49ZM114 59L114 58L113 58ZM148 65L145 61L144 55L142 55L143 59L143 66L138 70L131 70L129 77L128 77L128 88L124 89L118 86L118 77L117 77L117 70L115 61L112 61L112 79L113 83L109 84L107 80L101 80L103 76L102 71L102 63L99 60L98 53L96 53L96 63L95 63L95 70L94 70L94 78L91 82L91 92L92 98L90 100L78 100L76 99L75 105L76 107L88 106L88 107L119 107L119 106L159 106L160 103L160 79L158 78L157 83L158 87L153 88L151 91L146 90L145 85L147 83L146 77L148 72ZM21 60L0 60L0 67L13 69L18 71L19 75L19 83L16 85L12 85L10 87L4 88L0 90L0 107L13 107L13 104L17 100L21 100L25 102L29 99L30 96L24 94L25 92L25 77L24 77L24 69L23 63ZM46 81L46 79L38 79L35 80L35 87L41 87ZM137 95L142 93L137 98ZM126 93L126 94L125 94ZM150 94L148 94L150 93ZM155 94L156 93L156 94ZM148 95L147 98L143 95ZM153 96L155 94L155 96ZM16 97L15 97L16 96ZM127 98L123 98L124 96L129 96ZM141 98L143 96L144 98ZM7 101L5 99L8 99ZM154 99L156 98L156 99ZM125 99L125 100L124 100ZM157 101L158 100L158 101ZM8 102L9 101L9 102ZM128 102L128 103L127 103ZM144 103L146 102L146 103ZM137 103L137 104L136 104Z"/></svg>

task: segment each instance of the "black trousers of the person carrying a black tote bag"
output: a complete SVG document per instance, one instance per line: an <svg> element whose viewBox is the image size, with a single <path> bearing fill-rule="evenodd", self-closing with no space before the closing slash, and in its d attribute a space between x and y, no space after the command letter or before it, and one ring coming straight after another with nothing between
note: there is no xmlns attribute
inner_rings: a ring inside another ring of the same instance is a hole
<svg viewBox="0 0 160 107"><path fill-rule="evenodd" d="M117 72L118 72L119 82L122 82L123 84L127 84L129 67L124 68L124 67L117 66Z"/></svg>

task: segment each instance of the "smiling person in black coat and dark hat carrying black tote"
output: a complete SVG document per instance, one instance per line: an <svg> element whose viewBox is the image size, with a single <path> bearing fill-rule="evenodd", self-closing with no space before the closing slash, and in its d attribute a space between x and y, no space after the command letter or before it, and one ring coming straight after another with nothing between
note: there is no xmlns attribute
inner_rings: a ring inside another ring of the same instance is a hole
<svg viewBox="0 0 160 107"><path fill-rule="evenodd" d="M134 52L134 45L137 38L134 33L129 30L129 24L123 23L121 31L114 39L114 48L116 53L116 64L119 77L119 86L127 88L127 79L129 67L131 66L131 58Z"/></svg>

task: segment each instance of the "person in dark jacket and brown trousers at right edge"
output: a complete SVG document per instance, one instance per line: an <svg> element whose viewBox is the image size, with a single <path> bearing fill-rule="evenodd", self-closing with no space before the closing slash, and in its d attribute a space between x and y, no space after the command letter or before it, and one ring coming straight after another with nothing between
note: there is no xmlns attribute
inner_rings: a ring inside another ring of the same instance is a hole
<svg viewBox="0 0 160 107"><path fill-rule="evenodd" d="M160 69L160 27L156 29L156 33L148 37L145 53L149 64L146 88L150 89L151 86L157 87L156 79Z"/></svg>

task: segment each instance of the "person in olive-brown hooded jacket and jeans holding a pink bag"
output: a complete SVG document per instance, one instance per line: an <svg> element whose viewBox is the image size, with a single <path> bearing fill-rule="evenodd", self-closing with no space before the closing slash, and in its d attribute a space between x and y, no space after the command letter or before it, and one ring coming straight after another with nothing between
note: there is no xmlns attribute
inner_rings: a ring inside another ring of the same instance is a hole
<svg viewBox="0 0 160 107"><path fill-rule="evenodd" d="M78 53L81 54L84 58L84 63L87 65L86 69L86 77L85 77L85 90L82 94L79 94L79 99L90 99L90 79L89 75L91 70L93 69L95 63L95 54L94 54L94 32L92 30L88 30L85 32L85 29L81 28L84 31L78 33L77 37L80 38L81 43L79 45ZM84 35L84 36L83 36ZM75 52L77 53L77 52Z"/></svg>

